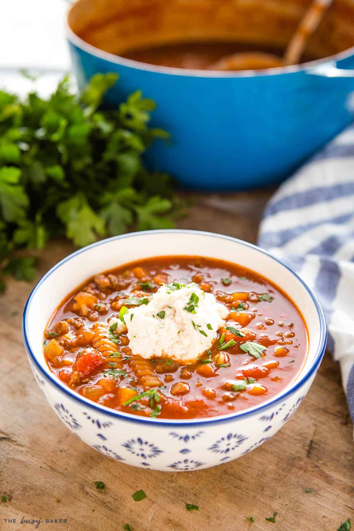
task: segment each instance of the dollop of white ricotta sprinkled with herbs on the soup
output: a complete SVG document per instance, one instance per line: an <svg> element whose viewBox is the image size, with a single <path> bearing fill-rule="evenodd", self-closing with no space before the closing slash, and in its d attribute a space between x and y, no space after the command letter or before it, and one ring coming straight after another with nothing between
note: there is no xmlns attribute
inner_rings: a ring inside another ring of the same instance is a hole
<svg viewBox="0 0 354 531"><path fill-rule="evenodd" d="M192 304L195 313L186 310ZM176 284L161 286L148 304L130 309L123 319L133 355L166 356L188 364L211 347L228 314L214 295L196 284Z"/></svg>

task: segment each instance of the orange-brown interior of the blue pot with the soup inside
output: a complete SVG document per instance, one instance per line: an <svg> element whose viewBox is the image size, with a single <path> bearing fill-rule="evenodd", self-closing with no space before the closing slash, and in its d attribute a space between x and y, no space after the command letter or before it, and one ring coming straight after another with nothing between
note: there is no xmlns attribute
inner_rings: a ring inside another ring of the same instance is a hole
<svg viewBox="0 0 354 531"><path fill-rule="evenodd" d="M279 57L310 0L79 0L70 28L90 45L135 61L210 70L238 52ZM354 1L335 0L301 62L354 46ZM277 65L268 65L268 67ZM252 64L242 68L253 69Z"/></svg>

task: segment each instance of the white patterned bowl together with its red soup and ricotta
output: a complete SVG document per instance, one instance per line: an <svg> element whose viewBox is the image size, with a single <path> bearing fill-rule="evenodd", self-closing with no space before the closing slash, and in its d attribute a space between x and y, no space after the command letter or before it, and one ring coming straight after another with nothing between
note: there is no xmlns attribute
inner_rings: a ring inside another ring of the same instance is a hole
<svg viewBox="0 0 354 531"><path fill-rule="evenodd" d="M121 463L194 470L266 442L326 345L312 290L269 253L192 230L117 236L38 282L23 340L49 405Z"/></svg>

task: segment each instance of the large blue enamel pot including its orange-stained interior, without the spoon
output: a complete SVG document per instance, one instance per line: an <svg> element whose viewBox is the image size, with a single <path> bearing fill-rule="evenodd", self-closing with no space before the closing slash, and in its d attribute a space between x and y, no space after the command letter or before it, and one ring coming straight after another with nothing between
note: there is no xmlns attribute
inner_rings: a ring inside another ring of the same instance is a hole
<svg viewBox="0 0 354 531"><path fill-rule="evenodd" d="M353 119L353 0L333 2L299 65L213 68L236 52L281 55L308 4L79 0L67 18L74 71L80 87L116 72L110 106L136 90L157 102L152 125L171 142L154 142L146 164L184 187L276 184Z"/></svg>

